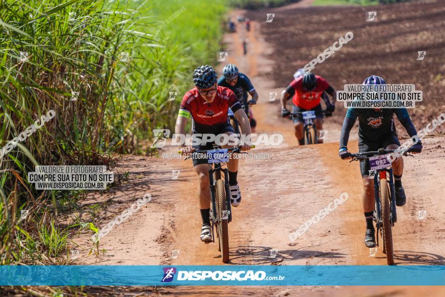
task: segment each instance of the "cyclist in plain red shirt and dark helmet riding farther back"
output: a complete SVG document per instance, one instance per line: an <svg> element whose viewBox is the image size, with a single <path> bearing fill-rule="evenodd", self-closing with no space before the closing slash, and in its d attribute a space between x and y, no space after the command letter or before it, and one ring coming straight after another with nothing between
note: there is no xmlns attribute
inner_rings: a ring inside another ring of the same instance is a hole
<svg viewBox="0 0 445 297"><path fill-rule="evenodd" d="M335 100L337 93L334 88L321 76L314 75L311 72L305 72L303 69L299 69L295 72L295 79L287 86L286 90L281 92L281 116L287 117L290 115L290 111L286 109L286 102L293 96L293 111L302 112L308 110L320 111L322 106L320 104L321 98L326 103L326 115L332 115L335 110ZM324 93L328 93L332 96L332 102ZM298 139L300 145L304 145L303 135L303 116L295 117L293 119L295 137ZM323 114L316 114L314 119L315 126L317 127L317 134L320 134L320 130L323 130ZM317 136L318 137L318 136ZM318 140L319 143L323 143L323 140Z"/></svg>

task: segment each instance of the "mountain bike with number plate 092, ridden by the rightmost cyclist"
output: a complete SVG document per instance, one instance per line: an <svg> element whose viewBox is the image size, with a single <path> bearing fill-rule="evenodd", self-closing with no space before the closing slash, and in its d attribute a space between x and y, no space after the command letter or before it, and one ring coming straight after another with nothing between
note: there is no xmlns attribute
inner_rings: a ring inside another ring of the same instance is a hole
<svg viewBox="0 0 445 297"><path fill-rule="evenodd" d="M378 151L351 154L352 161L369 160L371 172L374 174L374 198L375 209L373 221L377 228L377 246L379 246L379 233L383 238L383 253L386 254L388 265L394 265L394 250L392 241L392 227L397 222L395 205L394 177L392 175L391 162L388 159L390 153L404 152L409 150L379 149ZM389 189L388 189L389 185Z"/></svg>

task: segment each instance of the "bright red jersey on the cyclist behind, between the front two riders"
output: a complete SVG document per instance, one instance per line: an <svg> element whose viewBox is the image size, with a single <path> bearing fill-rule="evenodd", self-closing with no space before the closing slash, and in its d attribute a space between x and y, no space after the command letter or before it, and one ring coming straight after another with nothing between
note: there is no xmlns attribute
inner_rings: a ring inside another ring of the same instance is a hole
<svg viewBox="0 0 445 297"><path fill-rule="evenodd" d="M327 91L329 94L333 93L334 89L323 77L316 75L317 87L308 91L303 87L303 76L294 79L286 89L290 95L294 95L292 102L305 110L311 110L320 104L323 92Z"/></svg>

